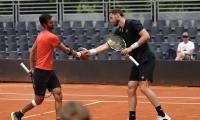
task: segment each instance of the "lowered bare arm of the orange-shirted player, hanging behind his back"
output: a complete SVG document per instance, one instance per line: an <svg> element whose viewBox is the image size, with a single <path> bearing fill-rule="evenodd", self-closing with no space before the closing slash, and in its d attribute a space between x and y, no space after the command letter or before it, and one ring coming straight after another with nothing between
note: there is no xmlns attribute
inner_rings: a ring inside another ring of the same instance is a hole
<svg viewBox="0 0 200 120"><path fill-rule="evenodd" d="M29 64L30 64L31 72L33 72L35 69L36 49L37 49L37 44L36 44L36 42L34 42L32 48L31 48L31 51L30 51L30 55L29 55Z"/></svg>

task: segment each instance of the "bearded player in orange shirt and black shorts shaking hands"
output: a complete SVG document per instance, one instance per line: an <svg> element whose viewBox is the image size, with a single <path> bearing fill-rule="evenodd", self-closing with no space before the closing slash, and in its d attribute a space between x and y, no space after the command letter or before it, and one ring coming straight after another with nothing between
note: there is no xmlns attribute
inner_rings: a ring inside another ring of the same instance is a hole
<svg viewBox="0 0 200 120"><path fill-rule="evenodd" d="M26 112L40 105L45 96L46 89L53 94L55 99L56 120L60 120L62 109L62 91L60 82L53 70L53 50L60 49L66 55L80 57L81 53L66 47L51 30L53 27L52 16L43 14L39 17L43 30L39 33L30 52L30 68L34 79L33 86L35 98L18 112L11 113L12 120L21 120Z"/></svg>

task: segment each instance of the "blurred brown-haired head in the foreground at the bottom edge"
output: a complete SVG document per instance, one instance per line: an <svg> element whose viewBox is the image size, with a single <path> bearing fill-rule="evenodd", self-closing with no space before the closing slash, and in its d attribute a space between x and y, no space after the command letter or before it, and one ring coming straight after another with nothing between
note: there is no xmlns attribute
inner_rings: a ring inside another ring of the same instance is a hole
<svg viewBox="0 0 200 120"><path fill-rule="evenodd" d="M81 103L71 101L63 107L61 120L90 120L90 116Z"/></svg>

